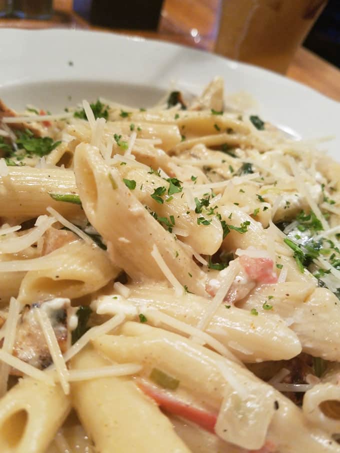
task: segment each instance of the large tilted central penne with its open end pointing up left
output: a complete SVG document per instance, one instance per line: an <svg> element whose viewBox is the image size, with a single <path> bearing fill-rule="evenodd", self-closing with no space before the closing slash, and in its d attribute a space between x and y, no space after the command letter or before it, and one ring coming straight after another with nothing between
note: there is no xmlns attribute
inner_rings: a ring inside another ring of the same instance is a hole
<svg viewBox="0 0 340 453"><path fill-rule="evenodd" d="M84 211L108 241L112 261L133 279L164 280L151 255L156 246L175 279L189 291L204 295L205 274L175 238L150 216L115 169L109 169L94 147L76 148L75 175ZM148 238L145 241L145 235Z"/></svg>

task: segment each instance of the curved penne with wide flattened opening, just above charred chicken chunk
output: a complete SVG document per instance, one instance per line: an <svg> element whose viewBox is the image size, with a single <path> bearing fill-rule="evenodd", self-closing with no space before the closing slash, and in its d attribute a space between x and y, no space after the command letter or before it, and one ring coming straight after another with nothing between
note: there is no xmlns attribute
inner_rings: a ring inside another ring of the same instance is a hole
<svg viewBox="0 0 340 453"><path fill-rule="evenodd" d="M28 271L23 278L18 296L22 304L53 297L78 298L103 287L119 273L103 250L81 240L54 250L45 259L44 268Z"/></svg>

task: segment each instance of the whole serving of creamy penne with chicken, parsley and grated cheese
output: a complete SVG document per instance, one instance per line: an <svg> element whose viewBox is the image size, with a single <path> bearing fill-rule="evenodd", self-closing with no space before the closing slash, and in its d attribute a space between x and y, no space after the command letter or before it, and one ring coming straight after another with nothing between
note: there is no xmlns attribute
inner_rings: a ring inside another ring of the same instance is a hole
<svg viewBox="0 0 340 453"><path fill-rule="evenodd" d="M1 452L340 452L340 167L223 99L0 101Z"/></svg>

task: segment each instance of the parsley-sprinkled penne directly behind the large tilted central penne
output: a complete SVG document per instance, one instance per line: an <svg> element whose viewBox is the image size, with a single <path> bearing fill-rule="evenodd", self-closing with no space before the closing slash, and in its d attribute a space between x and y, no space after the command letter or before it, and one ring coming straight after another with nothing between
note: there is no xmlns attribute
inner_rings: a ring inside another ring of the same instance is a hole
<svg viewBox="0 0 340 453"><path fill-rule="evenodd" d="M173 229L182 231L178 233L182 242L189 244L197 253L212 255L222 243L222 227L216 216L211 216L208 225L198 224L197 219L201 214L196 214L190 210L183 192L173 193L169 202L158 203L151 197L155 188L169 186L167 181L154 174L148 174L143 168L131 169L128 165L117 167L123 178L136 182L133 194L140 203L148 206L151 211L156 212L157 216L170 219L173 216ZM177 190L177 189L175 189Z"/></svg>

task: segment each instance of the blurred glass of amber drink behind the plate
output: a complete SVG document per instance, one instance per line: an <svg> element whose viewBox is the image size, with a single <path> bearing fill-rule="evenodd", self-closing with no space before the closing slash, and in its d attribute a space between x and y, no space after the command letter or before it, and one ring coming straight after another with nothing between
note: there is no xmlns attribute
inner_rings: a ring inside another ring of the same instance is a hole
<svg viewBox="0 0 340 453"><path fill-rule="evenodd" d="M215 52L285 73L326 0L221 0Z"/></svg>

